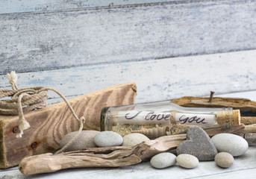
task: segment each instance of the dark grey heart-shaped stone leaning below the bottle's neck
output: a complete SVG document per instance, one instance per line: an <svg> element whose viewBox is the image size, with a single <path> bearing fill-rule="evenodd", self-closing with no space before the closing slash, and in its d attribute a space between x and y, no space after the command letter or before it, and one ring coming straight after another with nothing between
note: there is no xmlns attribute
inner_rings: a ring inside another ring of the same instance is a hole
<svg viewBox="0 0 256 179"><path fill-rule="evenodd" d="M214 160L218 153L208 134L197 126L187 131L187 140L176 149L177 154L191 154L200 161Z"/></svg>

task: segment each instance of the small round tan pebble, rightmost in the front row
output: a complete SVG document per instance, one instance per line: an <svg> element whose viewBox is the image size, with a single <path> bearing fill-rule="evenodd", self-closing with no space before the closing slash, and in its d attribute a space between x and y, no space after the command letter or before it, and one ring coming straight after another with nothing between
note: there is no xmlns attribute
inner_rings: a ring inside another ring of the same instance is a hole
<svg viewBox="0 0 256 179"><path fill-rule="evenodd" d="M219 152L214 157L214 160L217 166L220 166L222 168L228 168L232 166L234 163L234 157L231 154L228 154L227 152Z"/></svg>

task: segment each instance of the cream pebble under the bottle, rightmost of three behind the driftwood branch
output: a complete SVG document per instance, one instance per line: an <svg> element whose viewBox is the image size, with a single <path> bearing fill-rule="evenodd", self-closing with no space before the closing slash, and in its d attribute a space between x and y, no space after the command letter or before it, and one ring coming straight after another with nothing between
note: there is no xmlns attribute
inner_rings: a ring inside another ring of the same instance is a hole
<svg viewBox="0 0 256 179"><path fill-rule="evenodd" d="M128 134L122 137L122 146L134 146L144 141L149 141L149 137L140 133Z"/></svg>

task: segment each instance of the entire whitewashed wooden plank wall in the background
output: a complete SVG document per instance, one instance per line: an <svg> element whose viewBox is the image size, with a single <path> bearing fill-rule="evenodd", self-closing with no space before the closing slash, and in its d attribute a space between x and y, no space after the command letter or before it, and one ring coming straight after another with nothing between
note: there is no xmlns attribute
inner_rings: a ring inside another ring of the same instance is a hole
<svg viewBox="0 0 256 179"><path fill-rule="evenodd" d="M246 0L0 0L0 88L14 70L18 87L67 98L131 81L137 103L256 90L255 9Z"/></svg>

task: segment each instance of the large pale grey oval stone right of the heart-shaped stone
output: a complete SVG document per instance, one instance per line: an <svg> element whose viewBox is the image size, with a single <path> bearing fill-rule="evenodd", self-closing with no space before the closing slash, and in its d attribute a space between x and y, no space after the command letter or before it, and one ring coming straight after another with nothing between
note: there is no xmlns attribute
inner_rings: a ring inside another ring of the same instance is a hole
<svg viewBox="0 0 256 179"><path fill-rule="evenodd" d="M246 139L234 134L216 134L211 139L219 152L228 152L233 157L246 153L249 147Z"/></svg>

